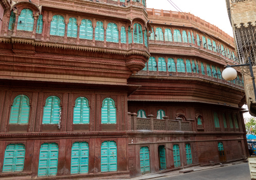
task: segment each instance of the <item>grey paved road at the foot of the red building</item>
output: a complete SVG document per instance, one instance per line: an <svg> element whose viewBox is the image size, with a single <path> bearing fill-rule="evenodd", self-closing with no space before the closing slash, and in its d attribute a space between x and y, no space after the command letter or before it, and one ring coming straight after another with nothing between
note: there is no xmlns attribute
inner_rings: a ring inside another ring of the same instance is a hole
<svg viewBox="0 0 256 180"><path fill-rule="evenodd" d="M158 180L250 180L248 163L154 178Z"/></svg>

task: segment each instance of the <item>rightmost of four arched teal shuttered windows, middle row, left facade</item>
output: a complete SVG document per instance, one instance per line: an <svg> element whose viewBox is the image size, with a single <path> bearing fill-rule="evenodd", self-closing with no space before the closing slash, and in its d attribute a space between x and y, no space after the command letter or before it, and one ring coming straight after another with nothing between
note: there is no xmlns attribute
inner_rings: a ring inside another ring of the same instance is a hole
<svg viewBox="0 0 256 180"><path fill-rule="evenodd" d="M111 98L106 98L102 102L101 124L116 124L115 102Z"/></svg>

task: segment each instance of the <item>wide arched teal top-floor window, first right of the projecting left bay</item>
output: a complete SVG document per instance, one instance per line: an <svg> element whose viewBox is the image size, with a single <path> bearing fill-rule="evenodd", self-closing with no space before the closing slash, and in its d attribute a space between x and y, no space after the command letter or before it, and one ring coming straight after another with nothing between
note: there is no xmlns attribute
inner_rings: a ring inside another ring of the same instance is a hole
<svg viewBox="0 0 256 180"><path fill-rule="evenodd" d="M65 35L65 21L63 16L54 15L52 17L50 35L54 35L54 36Z"/></svg>

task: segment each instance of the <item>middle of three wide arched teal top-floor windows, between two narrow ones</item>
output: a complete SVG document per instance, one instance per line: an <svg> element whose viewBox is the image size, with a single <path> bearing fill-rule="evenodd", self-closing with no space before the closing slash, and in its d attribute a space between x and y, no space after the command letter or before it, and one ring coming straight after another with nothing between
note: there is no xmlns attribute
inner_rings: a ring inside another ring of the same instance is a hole
<svg viewBox="0 0 256 180"><path fill-rule="evenodd" d="M93 33L92 22L87 19L82 20L80 25L79 38L92 40L93 38L92 33Z"/></svg>

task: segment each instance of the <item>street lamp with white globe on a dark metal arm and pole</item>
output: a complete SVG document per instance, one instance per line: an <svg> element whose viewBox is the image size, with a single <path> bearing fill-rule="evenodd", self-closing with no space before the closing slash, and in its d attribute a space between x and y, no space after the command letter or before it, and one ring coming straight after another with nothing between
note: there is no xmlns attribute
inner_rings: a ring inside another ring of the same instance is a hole
<svg viewBox="0 0 256 180"><path fill-rule="evenodd" d="M234 80L237 76L237 72L234 68L232 67L238 67L238 66L249 66L250 69L250 76L251 76L251 80L252 80L252 85L253 85L253 91L254 91L254 97L256 98L256 87L255 87L255 77L253 75L253 71L252 71L252 65L251 65L251 60L250 57L248 57L248 61L249 64L239 64L239 65L227 65L226 69L224 69L224 71L222 72L222 77L226 80L226 81L230 81L230 80Z"/></svg>

